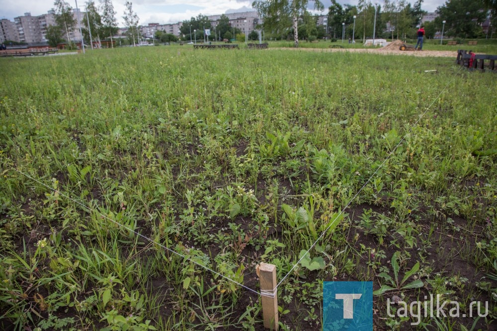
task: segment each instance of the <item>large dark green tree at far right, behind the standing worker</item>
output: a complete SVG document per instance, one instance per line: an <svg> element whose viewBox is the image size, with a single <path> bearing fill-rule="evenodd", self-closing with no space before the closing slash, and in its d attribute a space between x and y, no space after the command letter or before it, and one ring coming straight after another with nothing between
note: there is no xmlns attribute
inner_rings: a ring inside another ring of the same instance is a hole
<svg viewBox="0 0 497 331"><path fill-rule="evenodd" d="M447 0L438 7L435 23L445 23L447 36L476 38L482 34L481 24L487 18L483 0ZM445 33L444 33L445 34Z"/></svg>

